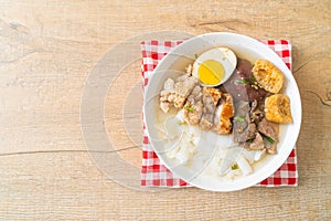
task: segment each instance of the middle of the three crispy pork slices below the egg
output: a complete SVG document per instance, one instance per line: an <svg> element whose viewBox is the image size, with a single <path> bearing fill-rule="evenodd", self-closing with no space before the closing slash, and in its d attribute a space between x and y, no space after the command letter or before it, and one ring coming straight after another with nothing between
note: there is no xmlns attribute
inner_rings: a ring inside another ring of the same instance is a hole
<svg viewBox="0 0 331 221"><path fill-rule="evenodd" d="M200 120L200 128L203 130L210 130L214 124L214 114L216 105L222 96L222 93L217 88L203 87L202 101L203 101L203 114Z"/></svg>

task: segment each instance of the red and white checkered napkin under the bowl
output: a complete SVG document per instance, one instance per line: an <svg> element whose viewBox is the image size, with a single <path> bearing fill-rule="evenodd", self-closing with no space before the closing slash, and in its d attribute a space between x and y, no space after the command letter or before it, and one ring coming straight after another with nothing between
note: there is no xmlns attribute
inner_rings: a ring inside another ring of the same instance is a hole
<svg viewBox="0 0 331 221"><path fill-rule="evenodd" d="M264 40L261 41L273 49L291 70L291 44L287 40ZM142 88L148 85L149 77L161 59L181 41L145 41L141 43L142 52ZM143 114L143 113L142 113ZM172 175L172 172L160 162L149 143L147 129L143 124L142 144L142 168L141 186L148 187L189 187L190 183ZM285 164L269 178L256 185L259 187L298 186L298 170L296 148Z"/></svg>

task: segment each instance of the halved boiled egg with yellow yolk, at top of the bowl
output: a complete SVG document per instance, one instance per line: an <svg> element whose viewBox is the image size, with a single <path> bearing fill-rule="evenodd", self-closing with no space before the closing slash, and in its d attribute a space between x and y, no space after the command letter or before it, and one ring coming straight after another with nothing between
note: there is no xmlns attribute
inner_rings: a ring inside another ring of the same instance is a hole
<svg viewBox="0 0 331 221"><path fill-rule="evenodd" d="M227 48L211 49L196 57L192 75L203 86L217 86L228 80L237 65L235 53Z"/></svg>

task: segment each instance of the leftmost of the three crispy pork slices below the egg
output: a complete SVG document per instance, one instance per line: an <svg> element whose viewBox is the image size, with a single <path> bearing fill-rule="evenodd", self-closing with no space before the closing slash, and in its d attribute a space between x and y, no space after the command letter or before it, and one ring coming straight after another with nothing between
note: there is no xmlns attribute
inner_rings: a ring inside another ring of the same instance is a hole
<svg viewBox="0 0 331 221"><path fill-rule="evenodd" d="M202 116L202 88L195 85L192 93L189 95L183 109L184 120L189 125L197 125Z"/></svg>

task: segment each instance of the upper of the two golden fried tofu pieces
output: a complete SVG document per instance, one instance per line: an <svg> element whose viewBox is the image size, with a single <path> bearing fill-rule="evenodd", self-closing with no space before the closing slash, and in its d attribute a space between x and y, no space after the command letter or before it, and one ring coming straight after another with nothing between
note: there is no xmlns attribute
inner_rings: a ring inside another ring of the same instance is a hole
<svg viewBox="0 0 331 221"><path fill-rule="evenodd" d="M282 73L267 60L257 60L254 63L253 75L258 85L267 92L276 94L282 87Z"/></svg>

